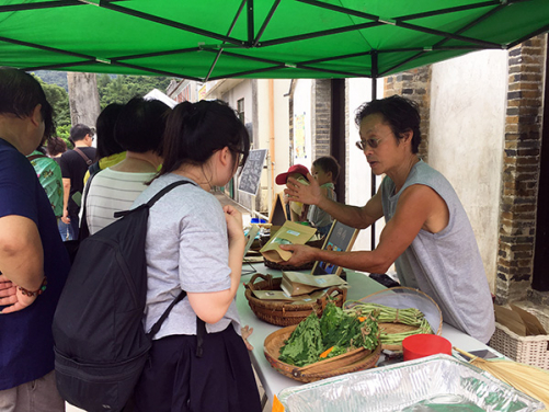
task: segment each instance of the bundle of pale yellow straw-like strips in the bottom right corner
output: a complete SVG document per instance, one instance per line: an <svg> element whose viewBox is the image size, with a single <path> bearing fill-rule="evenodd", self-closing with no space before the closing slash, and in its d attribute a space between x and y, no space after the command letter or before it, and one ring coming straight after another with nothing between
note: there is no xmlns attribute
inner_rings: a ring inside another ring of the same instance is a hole
<svg viewBox="0 0 549 412"><path fill-rule="evenodd" d="M456 346L454 350L471 358L471 365L488 371L513 388L544 402L549 410L549 371L514 360L487 360Z"/></svg>

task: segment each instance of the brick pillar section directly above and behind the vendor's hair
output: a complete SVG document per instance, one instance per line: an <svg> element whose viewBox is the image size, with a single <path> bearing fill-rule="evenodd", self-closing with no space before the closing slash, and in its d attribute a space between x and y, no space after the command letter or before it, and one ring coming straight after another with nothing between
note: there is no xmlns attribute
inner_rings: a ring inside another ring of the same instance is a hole
<svg viewBox="0 0 549 412"><path fill-rule="evenodd" d="M423 66L398 75L388 76L385 80L384 95L399 94L419 104L421 115L421 137L419 154L428 162L428 121L431 107L431 66Z"/></svg>

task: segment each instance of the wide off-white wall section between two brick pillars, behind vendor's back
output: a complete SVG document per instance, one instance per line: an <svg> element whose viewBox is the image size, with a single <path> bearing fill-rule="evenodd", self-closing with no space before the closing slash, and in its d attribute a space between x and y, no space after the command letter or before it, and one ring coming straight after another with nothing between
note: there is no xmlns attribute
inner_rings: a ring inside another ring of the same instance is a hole
<svg viewBox="0 0 549 412"><path fill-rule="evenodd" d="M494 289L507 53L477 52L433 65L428 163L454 185Z"/></svg>

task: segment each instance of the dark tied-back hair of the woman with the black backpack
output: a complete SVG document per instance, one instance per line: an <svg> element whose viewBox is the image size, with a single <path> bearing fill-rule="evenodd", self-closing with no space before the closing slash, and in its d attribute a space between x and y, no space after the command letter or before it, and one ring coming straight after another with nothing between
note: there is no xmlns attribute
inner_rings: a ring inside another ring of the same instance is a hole
<svg viewBox="0 0 549 412"><path fill-rule="evenodd" d="M204 164L225 147L233 154L242 154L240 163L245 163L250 151L248 129L227 103L220 100L180 103L168 117L164 162L159 175L182 164Z"/></svg>

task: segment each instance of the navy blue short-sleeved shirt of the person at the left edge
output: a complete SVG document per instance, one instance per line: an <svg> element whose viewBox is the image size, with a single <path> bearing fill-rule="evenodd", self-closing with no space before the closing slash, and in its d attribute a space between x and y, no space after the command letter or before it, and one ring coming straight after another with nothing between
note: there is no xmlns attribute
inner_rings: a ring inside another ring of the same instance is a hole
<svg viewBox="0 0 549 412"><path fill-rule="evenodd" d="M0 314L0 390L54 369L52 321L70 268L54 211L36 172L22 153L0 137L0 218L11 215L36 224L48 285L30 307Z"/></svg>

